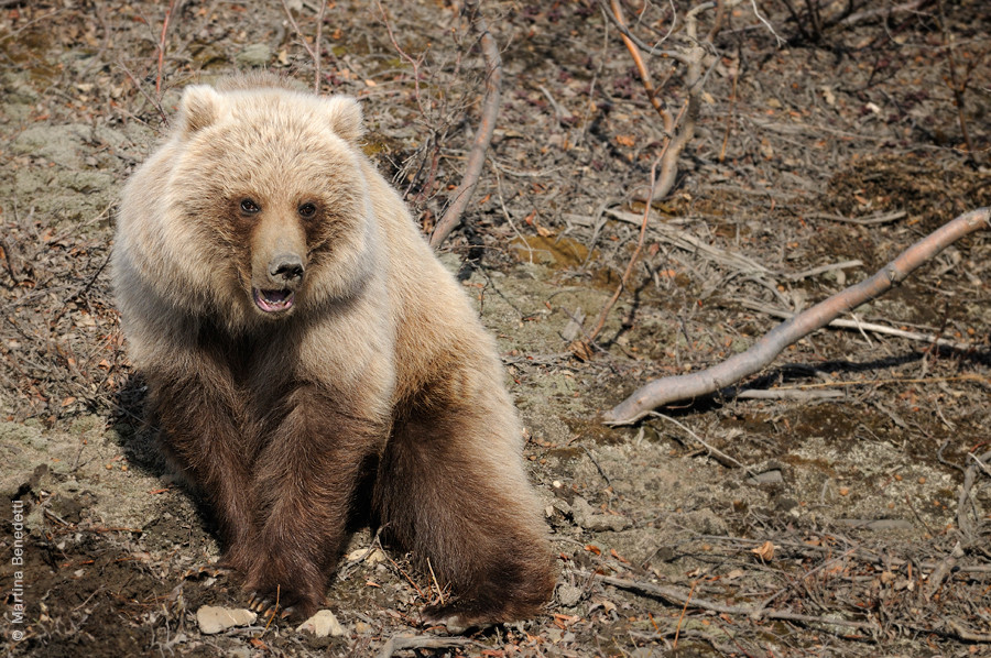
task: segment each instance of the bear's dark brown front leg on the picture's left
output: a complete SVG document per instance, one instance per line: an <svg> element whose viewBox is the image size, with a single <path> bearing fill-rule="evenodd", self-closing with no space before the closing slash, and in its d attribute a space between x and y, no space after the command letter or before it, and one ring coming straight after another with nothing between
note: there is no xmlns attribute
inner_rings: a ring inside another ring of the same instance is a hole
<svg viewBox="0 0 991 658"><path fill-rule="evenodd" d="M207 366L196 373L155 370L148 380L160 443L208 500L224 561L243 571L252 534L250 460L255 448L246 434L242 396L229 377Z"/></svg>

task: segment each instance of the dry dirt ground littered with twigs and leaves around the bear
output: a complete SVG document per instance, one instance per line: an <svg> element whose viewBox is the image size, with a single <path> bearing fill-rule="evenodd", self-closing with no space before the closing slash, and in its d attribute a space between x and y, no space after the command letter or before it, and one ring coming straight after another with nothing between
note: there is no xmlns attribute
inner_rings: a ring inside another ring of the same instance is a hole
<svg viewBox="0 0 991 658"><path fill-rule="evenodd" d="M689 9L639 2L628 20L650 43ZM662 124L598 2L484 2L502 106L442 252L503 351L555 599L466 638L422 628L428 574L360 530L328 592L341 634L202 633L200 606L247 601L142 424L109 289L117 195L187 83L266 67L312 85L300 35L317 4L288 2L297 30L273 0L0 2L6 654L991 655L987 231L846 316L951 344L826 329L745 382L752 396L600 419L991 205L983 0L726 2L677 186L585 360L568 344L633 252ZM361 99L368 153L428 231L478 122L477 36L443 0L338 0L322 34L323 92ZM676 111L679 69L646 64Z"/></svg>

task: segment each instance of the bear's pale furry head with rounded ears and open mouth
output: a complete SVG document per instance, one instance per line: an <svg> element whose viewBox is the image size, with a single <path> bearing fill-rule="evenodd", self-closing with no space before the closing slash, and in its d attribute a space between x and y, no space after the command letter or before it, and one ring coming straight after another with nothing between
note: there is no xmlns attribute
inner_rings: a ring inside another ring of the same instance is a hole
<svg viewBox="0 0 991 658"><path fill-rule="evenodd" d="M350 97L187 87L163 202L190 296L243 325L352 295L374 260L361 134Z"/></svg>

